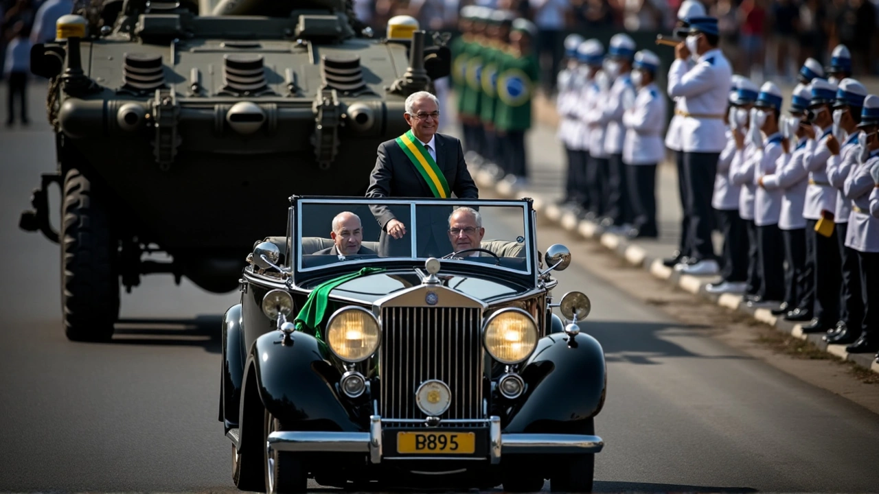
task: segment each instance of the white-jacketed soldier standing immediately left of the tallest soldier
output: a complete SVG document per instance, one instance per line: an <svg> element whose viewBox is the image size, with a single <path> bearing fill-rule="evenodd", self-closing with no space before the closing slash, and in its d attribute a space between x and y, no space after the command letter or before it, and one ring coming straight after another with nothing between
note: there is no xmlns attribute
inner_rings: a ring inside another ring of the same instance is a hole
<svg viewBox="0 0 879 494"><path fill-rule="evenodd" d="M638 91L635 104L622 114L626 127L622 161L628 173L628 197L636 229L634 236L656 238L657 163L665 157L662 131L665 127L665 95L659 92L654 78L659 68L659 57L650 50L635 54L632 64L632 84Z"/></svg>

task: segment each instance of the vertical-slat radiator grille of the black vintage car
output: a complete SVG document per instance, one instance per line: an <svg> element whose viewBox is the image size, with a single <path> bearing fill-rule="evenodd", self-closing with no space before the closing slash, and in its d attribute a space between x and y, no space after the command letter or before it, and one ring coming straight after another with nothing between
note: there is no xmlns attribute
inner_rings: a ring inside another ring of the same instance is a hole
<svg viewBox="0 0 879 494"><path fill-rule="evenodd" d="M415 402L422 382L439 379L452 391L440 418L482 420L481 309L388 307L381 310L381 418L422 419ZM411 426L411 424L405 424ZM473 426L454 424L449 426ZM482 425L482 424L476 424Z"/></svg>

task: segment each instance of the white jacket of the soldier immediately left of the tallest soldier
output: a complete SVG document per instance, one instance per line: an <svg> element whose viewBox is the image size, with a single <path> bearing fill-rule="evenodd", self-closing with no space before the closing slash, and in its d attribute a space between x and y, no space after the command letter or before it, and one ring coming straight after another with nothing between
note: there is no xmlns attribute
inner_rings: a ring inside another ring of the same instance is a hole
<svg viewBox="0 0 879 494"><path fill-rule="evenodd" d="M665 158L665 95L659 93L655 83L638 90L635 105L622 114L622 125L626 127L623 163L657 164Z"/></svg>

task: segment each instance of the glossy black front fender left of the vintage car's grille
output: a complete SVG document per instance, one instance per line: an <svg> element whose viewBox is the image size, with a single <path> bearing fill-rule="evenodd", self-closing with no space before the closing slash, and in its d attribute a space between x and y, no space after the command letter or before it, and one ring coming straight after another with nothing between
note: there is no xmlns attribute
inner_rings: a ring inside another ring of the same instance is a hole
<svg viewBox="0 0 879 494"><path fill-rule="evenodd" d="M322 430L360 431L340 400L336 383L341 373L326 358L326 347L315 337L294 331L271 331L257 338L248 356L257 373L259 397L280 421L294 428L317 421Z"/></svg>

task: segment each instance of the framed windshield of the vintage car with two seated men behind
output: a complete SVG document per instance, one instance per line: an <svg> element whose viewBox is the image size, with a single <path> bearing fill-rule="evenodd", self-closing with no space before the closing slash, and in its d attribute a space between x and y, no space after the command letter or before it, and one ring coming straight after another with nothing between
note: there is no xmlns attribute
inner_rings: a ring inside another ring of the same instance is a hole
<svg viewBox="0 0 879 494"><path fill-rule="evenodd" d="M490 200L299 200L296 269L381 267L444 258L530 273L527 202Z"/></svg>

